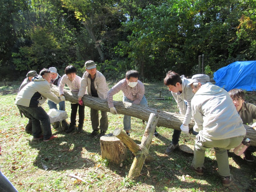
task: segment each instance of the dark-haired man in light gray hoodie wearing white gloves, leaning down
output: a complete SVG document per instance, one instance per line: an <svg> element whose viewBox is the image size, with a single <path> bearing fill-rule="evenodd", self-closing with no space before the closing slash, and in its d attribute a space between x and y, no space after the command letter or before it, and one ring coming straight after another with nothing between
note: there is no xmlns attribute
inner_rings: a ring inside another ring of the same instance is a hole
<svg viewBox="0 0 256 192"><path fill-rule="evenodd" d="M194 97L194 93L192 92L190 85L188 85L189 83L190 82L184 75L179 76L174 71L168 71L164 78L164 84L169 88L169 91L172 92L172 96L180 109L180 114L185 116L180 126L180 130L187 135L189 132L188 124L192 116L191 100ZM173 130L172 142L166 148L165 154L169 155L174 149L179 147L180 130Z"/></svg>

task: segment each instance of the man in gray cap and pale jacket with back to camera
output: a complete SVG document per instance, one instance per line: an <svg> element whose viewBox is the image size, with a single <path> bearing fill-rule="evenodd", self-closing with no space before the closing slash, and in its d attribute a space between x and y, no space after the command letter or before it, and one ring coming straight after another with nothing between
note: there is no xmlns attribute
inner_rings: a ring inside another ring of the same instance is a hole
<svg viewBox="0 0 256 192"><path fill-rule="evenodd" d="M214 148L222 185L229 187L234 179L230 175L227 149L237 147L246 131L228 92L211 84L209 79L198 74L189 83L195 94L191 100L194 131L199 132L190 168L203 175L205 149Z"/></svg>

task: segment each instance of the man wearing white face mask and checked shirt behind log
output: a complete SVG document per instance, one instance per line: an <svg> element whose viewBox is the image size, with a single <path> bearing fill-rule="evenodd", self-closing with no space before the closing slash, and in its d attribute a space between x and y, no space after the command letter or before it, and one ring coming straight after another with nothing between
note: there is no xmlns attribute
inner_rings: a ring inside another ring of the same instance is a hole
<svg viewBox="0 0 256 192"><path fill-rule="evenodd" d="M143 83L138 80L139 73L138 71L127 71L125 75L125 79L119 81L116 85L112 87L112 89L108 92L108 107L110 108L110 112L112 114L117 114L116 108L113 104L113 95L118 93L120 90L123 92L123 101L129 102L133 104L140 104L148 107L148 102L145 98L145 88ZM124 115L124 130L127 135L130 136L131 130L131 116ZM155 131L155 136L158 133Z"/></svg>

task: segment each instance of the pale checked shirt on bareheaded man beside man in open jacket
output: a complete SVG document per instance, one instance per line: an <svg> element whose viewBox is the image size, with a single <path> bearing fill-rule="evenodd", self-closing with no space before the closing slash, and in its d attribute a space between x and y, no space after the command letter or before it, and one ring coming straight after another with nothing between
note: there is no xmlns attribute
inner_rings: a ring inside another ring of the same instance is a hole
<svg viewBox="0 0 256 192"><path fill-rule="evenodd" d="M63 75L59 84L60 95L64 94L63 90L64 90L65 84L68 85L70 91L79 92L79 89L81 86L81 80L82 78L76 75L75 79L73 81L70 81L67 75Z"/></svg>

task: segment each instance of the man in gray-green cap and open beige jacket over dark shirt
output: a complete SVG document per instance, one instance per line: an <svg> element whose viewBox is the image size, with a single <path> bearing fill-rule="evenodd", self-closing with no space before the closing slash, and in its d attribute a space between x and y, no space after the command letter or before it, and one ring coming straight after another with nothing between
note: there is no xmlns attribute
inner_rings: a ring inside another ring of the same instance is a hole
<svg viewBox="0 0 256 192"><path fill-rule="evenodd" d="M105 76L96 69L94 61L89 60L85 62L86 71L84 72L81 87L78 92L78 103L83 105L82 97L86 92L92 97L98 97L100 99L107 99L108 84ZM106 134L108 130L108 115L107 111L101 111L101 118L99 121L99 110L91 108L91 122L92 132L89 136L95 136L100 131L100 136Z"/></svg>

